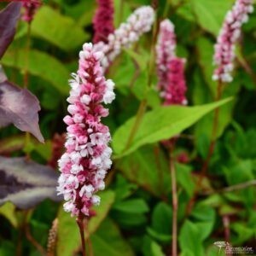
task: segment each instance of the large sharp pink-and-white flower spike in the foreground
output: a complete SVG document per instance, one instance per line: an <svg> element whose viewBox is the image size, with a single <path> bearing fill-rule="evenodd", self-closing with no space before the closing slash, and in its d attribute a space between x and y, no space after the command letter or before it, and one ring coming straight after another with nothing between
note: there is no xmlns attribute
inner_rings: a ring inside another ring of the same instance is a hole
<svg viewBox="0 0 256 256"><path fill-rule="evenodd" d="M108 116L102 102L113 101L114 84L103 76L102 56L92 44L84 44L79 53L79 71L70 80L72 89L67 98L70 115L64 118L68 125L66 153L59 160L61 177L57 190L67 201L65 211L76 216L89 216L90 207L99 204L95 193L104 189L103 179L112 164L112 149L108 147L111 137L101 118Z"/></svg>

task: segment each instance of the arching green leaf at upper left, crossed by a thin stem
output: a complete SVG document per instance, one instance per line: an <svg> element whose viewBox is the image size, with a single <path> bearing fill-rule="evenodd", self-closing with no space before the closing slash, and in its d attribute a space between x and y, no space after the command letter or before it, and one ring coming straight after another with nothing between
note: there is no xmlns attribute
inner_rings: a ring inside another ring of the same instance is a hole
<svg viewBox="0 0 256 256"><path fill-rule="evenodd" d="M15 54L15 50L8 51L4 55L2 62L3 65L15 67L23 71L26 66L26 50L20 49L18 54ZM68 94L69 72L61 61L58 61L55 57L32 49L29 52L28 72L48 81L62 95ZM44 84L42 85L44 86Z"/></svg>

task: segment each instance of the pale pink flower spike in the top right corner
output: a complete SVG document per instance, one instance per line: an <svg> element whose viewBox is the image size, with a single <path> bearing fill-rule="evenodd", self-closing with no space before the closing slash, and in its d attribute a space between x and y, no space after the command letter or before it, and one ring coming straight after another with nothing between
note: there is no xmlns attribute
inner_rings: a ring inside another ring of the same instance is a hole
<svg viewBox="0 0 256 256"><path fill-rule="evenodd" d="M231 82L236 42L241 35L241 25L248 20L253 12L252 0L236 0L233 8L227 13L221 28L217 44L215 44L214 64L217 66L213 80Z"/></svg>

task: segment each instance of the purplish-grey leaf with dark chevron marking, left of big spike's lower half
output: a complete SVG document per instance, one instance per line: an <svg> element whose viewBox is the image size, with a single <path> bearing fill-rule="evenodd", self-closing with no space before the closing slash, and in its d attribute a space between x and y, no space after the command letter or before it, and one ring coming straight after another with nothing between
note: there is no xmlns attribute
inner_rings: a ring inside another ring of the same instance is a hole
<svg viewBox="0 0 256 256"><path fill-rule="evenodd" d="M20 209L28 209L46 198L61 201L57 180L58 173L49 166L22 157L0 157L0 206L11 201Z"/></svg>

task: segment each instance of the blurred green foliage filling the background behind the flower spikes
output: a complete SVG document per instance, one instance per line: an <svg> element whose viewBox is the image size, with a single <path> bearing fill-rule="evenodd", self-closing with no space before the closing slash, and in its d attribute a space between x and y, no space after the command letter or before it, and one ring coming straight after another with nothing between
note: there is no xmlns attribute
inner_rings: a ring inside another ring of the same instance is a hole
<svg viewBox="0 0 256 256"><path fill-rule="evenodd" d="M177 33L177 55L187 58L186 79L189 106L160 107L155 90L156 76L148 71L152 32L113 63L108 77L116 84L116 100L105 119L113 134L113 168L102 192L102 204L88 224L88 244L95 256L170 255L172 241L172 193L168 154L160 140L183 131L177 142L178 247L180 255L218 254L215 241L225 241L230 230L234 247L255 249L256 232L256 14L243 26L241 44L236 48L234 81L224 90L231 102L220 108L218 143L201 188L198 173L207 156L212 132L212 109L217 84L212 82L213 44L230 9L232 0L159 1L157 19L169 18ZM115 25L125 21L132 10L150 4L147 0L115 0ZM69 74L78 68L82 44L92 38L94 0L49 0L32 21L32 50L29 54L29 89L38 96L42 111L40 127L46 143L25 135L12 126L0 132L1 154L24 155L45 164L51 156L51 140L65 131L62 118L67 112ZM20 21L15 41L1 63L9 80L22 85L26 55L26 24ZM150 79L148 79L150 78ZM152 81L148 84L148 80ZM149 86L148 86L149 85ZM148 113L141 130L125 148L132 117L140 102L147 100ZM208 113L211 112L211 113ZM207 114L208 113L208 114ZM203 117L203 118L201 118ZM180 121L182 118L182 121ZM131 119L127 122L128 119ZM191 126L192 125L192 126ZM186 164L178 156L189 157ZM235 186L241 184L239 186ZM244 185L246 184L246 185ZM251 186L247 186L251 184ZM224 189L231 188L231 189ZM195 189L199 196L189 214L186 209ZM11 203L0 207L0 255L40 255L28 241L25 227L46 247L52 221L58 218L56 255L79 255L79 230L75 219L62 211L61 204L44 201L22 212ZM228 227L224 219L229 219ZM17 249L18 248L18 249Z"/></svg>

